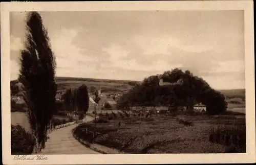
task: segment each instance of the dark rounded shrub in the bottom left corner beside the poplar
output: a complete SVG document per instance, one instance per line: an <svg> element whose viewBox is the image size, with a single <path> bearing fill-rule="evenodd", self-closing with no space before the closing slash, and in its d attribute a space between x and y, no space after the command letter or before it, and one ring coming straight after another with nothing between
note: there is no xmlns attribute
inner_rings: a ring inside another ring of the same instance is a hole
<svg viewBox="0 0 256 165"><path fill-rule="evenodd" d="M22 126L11 125L11 154L32 154L35 139Z"/></svg>

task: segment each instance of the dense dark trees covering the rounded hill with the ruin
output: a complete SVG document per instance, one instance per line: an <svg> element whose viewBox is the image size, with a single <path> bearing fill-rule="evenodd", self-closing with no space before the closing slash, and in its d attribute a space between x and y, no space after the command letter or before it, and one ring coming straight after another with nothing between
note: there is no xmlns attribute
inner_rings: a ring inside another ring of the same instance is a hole
<svg viewBox="0 0 256 165"><path fill-rule="evenodd" d="M160 78L172 84L159 86ZM212 89L206 81L194 76L189 70L183 72L175 68L160 76L145 78L141 85L133 87L119 99L118 109L167 105L170 109L186 106L191 111L197 103L205 104L210 114L219 114L227 108L222 93Z"/></svg>

